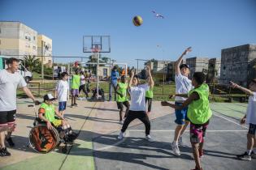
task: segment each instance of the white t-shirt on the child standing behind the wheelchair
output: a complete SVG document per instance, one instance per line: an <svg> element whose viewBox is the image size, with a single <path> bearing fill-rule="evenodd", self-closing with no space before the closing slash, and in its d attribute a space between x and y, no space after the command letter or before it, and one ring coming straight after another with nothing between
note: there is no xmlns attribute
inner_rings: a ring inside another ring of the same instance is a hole
<svg viewBox="0 0 256 170"><path fill-rule="evenodd" d="M67 101L67 91L69 90L67 81L59 80L55 90L57 91L59 102Z"/></svg>

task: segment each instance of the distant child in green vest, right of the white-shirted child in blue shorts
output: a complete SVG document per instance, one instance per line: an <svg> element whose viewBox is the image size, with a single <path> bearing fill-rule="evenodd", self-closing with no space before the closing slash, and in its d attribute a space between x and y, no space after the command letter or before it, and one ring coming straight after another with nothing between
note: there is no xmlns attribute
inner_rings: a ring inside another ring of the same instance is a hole
<svg viewBox="0 0 256 170"><path fill-rule="evenodd" d="M75 74L72 75L72 106L77 106L76 98L79 95L79 87L80 87L80 74L78 70L75 70Z"/></svg>

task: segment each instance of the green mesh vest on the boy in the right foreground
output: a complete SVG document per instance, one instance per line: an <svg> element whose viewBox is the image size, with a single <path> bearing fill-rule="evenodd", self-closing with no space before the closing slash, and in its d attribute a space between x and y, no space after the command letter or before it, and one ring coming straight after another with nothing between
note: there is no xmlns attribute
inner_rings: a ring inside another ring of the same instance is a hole
<svg viewBox="0 0 256 170"><path fill-rule="evenodd" d="M193 100L189 104L188 117L193 124L204 124L208 121L212 115L209 105L209 87L206 83L203 83L200 87L194 88L189 91L189 96L196 91L199 95L199 100Z"/></svg>

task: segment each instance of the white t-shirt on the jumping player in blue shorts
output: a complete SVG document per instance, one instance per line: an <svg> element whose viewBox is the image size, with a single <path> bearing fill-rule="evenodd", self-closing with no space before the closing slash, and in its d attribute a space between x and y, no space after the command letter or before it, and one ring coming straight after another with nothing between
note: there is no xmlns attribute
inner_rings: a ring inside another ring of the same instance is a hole
<svg viewBox="0 0 256 170"><path fill-rule="evenodd" d="M189 91L192 90L193 88L191 80L182 74L175 75L175 83L176 83L176 94L188 94ZM176 96L175 100L184 101L186 100L186 98Z"/></svg>

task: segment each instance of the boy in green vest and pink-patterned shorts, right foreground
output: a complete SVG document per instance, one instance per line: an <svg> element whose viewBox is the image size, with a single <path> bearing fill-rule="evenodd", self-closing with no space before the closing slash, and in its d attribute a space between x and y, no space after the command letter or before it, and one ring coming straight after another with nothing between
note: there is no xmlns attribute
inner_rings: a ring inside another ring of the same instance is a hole
<svg viewBox="0 0 256 170"><path fill-rule="evenodd" d="M193 74L192 85L193 90L189 91L189 95L180 94L176 96L189 97L180 106L162 101L163 106L170 106L175 109L182 109L189 106L188 118L190 121L190 142L193 148L193 158L195 159L196 168L193 170L202 170L200 157L202 157L202 147L206 129L212 115L209 106L209 87L205 82L206 76L202 72Z"/></svg>

